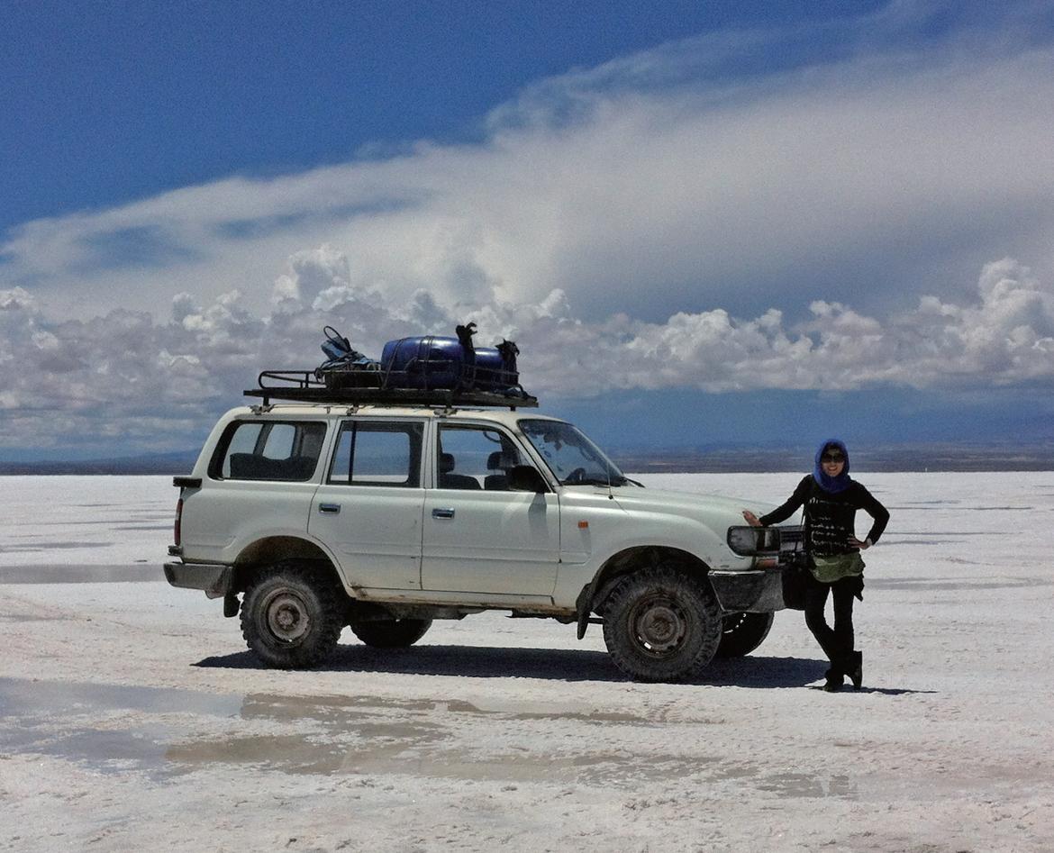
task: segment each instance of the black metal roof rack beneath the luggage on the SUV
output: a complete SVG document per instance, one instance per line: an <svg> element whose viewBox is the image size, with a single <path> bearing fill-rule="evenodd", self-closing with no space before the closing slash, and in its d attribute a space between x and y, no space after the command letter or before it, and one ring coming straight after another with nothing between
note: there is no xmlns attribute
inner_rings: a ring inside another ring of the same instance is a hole
<svg viewBox="0 0 1054 853"><path fill-rule="evenodd" d="M295 403L331 403L337 405L375 406L491 406L509 409L533 408L538 398L523 388L515 393L496 391L454 391L446 388L356 388L331 387L311 370L264 370L256 388L248 388L246 396L259 396L264 405L272 400Z"/></svg>

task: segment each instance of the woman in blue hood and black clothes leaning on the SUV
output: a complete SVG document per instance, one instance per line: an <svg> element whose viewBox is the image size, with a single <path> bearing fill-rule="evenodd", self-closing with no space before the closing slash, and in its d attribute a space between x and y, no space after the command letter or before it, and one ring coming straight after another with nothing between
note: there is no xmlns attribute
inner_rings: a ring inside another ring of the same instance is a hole
<svg viewBox="0 0 1054 853"><path fill-rule="evenodd" d="M831 661L825 691L837 691L847 675L857 690L863 683L863 654L854 650L853 598L863 600L863 560L860 551L876 542L890 513L867 489L850 477L845 444L828 439L816 451L813 473L806 476L782 506L760 519L743 511L748 524L767 527L790 518L804 506L805 552L814 581L805 592L805 624ZM856 511L874 519L863 539L856 538ZM835 626L827 624L827 594L834 599Z"/></svg>

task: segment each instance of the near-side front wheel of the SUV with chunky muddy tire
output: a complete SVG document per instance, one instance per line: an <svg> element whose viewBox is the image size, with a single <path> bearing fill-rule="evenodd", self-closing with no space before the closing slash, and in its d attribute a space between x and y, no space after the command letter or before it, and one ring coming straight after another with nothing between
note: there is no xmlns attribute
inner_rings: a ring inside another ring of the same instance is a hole
<svg viewBox="0 0 1054 853"><path fill-rule="evenodd" d="M678 681L699 673L721 641L721 608L703 577L658 565L627 577L604 607L604 642L638 681Z"/></svg>

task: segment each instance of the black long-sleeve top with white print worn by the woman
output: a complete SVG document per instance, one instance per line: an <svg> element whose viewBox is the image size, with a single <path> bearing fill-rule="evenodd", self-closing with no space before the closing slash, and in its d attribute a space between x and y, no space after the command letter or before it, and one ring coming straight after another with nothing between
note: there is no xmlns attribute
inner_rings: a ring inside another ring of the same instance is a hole
<svg viewBox="0 0 1054 853"><path fill-rule="evenodd" d="M855 550L848 540L856 535L854 522L858 509L863 509L875 520L865 537L872 544L878 542L890 521L889 510L855 480L844 491L832 493L820 488L812 474L802 479L786 503L762 516L759 521L766 527L778 524L790 518L800 506L805 507L805 550L817 557L833 557Z"/></svg>

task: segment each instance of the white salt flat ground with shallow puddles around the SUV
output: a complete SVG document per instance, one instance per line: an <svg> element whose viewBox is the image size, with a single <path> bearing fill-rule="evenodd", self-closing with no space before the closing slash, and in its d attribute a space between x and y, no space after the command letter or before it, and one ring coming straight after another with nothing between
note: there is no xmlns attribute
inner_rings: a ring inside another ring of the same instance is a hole
<svg viewBox="0 0 1054 853"><path fill-rule="evenodd" d="M793 612L688 684L501 614L264 670L160 580L169 478L3 478L0 850L1054 849L1054 472L859 479L893 520L827 694Z"/></svg>

